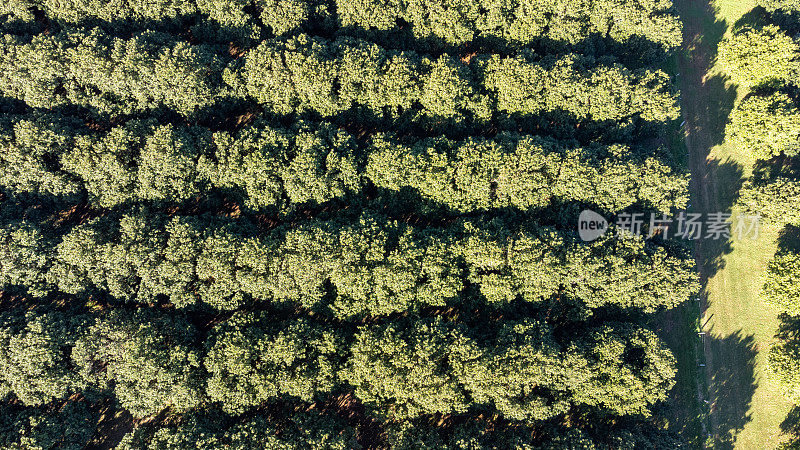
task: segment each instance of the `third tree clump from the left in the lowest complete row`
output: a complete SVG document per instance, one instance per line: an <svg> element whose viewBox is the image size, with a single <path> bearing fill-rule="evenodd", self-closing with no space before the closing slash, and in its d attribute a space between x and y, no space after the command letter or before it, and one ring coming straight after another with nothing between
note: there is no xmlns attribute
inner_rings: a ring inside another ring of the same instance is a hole
<svg viewBox="0 0 800 450"><path fill-rule="evenodd" d="M207 392L229 412L244 412L280 395L311 402L336 383L341 338L329 327L299 319L269 323L237 314L207 342Z"/></svg>

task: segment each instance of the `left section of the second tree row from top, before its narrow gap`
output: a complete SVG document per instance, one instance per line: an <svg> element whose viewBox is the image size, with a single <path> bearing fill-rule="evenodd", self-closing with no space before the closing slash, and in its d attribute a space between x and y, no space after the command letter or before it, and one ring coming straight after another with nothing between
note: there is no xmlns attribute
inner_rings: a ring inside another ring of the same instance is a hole
<svg viewBox="0 0 800 450"><path fill-rule="evenodd" d="M131 114L169 108L192 116L220 95L221 60L212 47L167 34L110 38L100 29L32 39L5 35L0 92L36 108L79 105Z"/></svg>

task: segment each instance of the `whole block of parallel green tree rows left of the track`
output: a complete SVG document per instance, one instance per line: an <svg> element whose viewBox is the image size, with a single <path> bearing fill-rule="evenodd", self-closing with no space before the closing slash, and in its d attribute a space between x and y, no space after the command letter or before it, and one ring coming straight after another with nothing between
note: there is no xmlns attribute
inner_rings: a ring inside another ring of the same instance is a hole
<svg viewBox="0 0 800 450"><path fill-rule="evenodd" d="M693 262L574 229L686 204L669 0L19 0L0 28L0 447L680 445L646 323Z"/></svg>

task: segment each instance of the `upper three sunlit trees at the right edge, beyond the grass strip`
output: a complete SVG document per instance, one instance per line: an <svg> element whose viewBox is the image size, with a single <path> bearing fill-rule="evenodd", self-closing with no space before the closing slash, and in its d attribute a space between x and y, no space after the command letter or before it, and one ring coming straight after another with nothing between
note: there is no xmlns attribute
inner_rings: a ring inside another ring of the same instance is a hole
<svg viewBox="0 0 800 450"><path fill-rule="evenodd" d="M732 81L750 91L726 128L730 142L759 160L742 186L739 204L780 224L800 221L800 43L794 37L800 27L780 21L786 10L779 6L771 5L771 13L762 12L723 40L718 58Z"/></svg>

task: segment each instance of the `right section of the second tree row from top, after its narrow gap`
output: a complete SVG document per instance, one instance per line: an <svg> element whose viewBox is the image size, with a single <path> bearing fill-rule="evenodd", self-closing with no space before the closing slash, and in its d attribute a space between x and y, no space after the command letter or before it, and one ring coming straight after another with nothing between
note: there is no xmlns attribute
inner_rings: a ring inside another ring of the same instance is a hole
<svg viewBox="0 0 800 450"><path fill-rule="evenodd" d="M487 121L493 111L522 116L559 112L578 120L676 119L669 77L631 71L577 55L476 57L464 64L366 41L300 35L267 40L250 50L226 81L271 110L314 111L323 117L355 107L397 115L409 109L429 120L465 115Z"/></svg>

